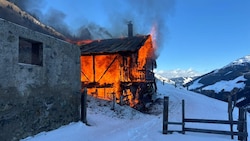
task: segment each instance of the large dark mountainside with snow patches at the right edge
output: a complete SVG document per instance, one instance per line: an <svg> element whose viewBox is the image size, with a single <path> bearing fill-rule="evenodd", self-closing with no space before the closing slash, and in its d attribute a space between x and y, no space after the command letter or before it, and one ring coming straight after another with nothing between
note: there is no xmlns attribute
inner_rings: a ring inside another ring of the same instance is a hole
<svg viewBox="0 0 250 141"><path fill-rule="evenodd" d="M238 105L247 105L250 103L250 55L200 76L186 86L189 90L224 101L230 94L236 94L236 99L241 99Z"/></svg>

